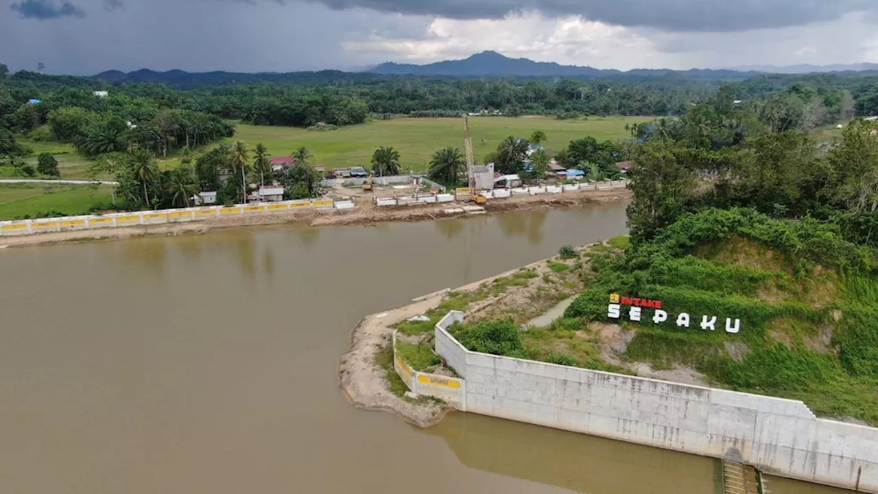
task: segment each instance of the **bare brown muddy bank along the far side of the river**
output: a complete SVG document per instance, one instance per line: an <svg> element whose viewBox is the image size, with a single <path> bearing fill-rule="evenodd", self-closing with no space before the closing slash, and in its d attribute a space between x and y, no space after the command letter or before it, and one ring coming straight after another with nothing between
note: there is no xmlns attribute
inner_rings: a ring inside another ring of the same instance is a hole
<svg viewBox="0 0 878 494"><path fill-rule="evenodd" d="M580 207L589 204L609 204L629 200L627 189L601 191L580 191L552 196L516 196L504 200L488 202L486 212L504 213L511 211L537 211ZM43 233L30 236L9 236L0 238L0 249L4 247L25 247L64 242L87 242L93 240L118 240L136 236L180 236L203 234L214 229L239 228L257 225L293 224L302 226L358 225L382 222L425 222L454 217L445 210L459 207L455 204L417 207L375 207L370 202L360 202L356 209L339 211L335 209L304 211L290 210L271 214L247 214L234 217L210 218L197 223L162 224L142 227L123 227L118 229L90 229Z"/></svg>

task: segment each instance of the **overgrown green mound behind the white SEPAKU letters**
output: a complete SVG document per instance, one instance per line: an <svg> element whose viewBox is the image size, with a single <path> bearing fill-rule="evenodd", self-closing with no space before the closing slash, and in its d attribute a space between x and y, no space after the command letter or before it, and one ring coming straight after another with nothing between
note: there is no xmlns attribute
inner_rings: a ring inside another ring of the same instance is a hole
<svg viewBox="0 0 878 494"><path fill-rule="evenodd" d="M624 323L637 331L625 358L878 424L878 256L835 226L708 209L595 271L565 317L606 322L613 293L661 300L669 313ZM689 328L673 323L680 312ZM717 316L717 330L702 330L702 316ZM725 317L740 318L738 334L723 331Z"/></svg>

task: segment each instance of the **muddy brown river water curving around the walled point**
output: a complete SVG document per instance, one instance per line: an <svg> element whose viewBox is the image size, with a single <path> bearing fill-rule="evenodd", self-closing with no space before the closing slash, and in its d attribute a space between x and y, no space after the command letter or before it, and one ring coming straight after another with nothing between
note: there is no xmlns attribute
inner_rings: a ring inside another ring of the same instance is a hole
<svg viewBox="0 0 878 494"><path fill-rule="evenodd" d="M0 251L0 493L713 494L708 458L471 414L422 431L339 389L363 316L623 234L624 210Z"/></svg>

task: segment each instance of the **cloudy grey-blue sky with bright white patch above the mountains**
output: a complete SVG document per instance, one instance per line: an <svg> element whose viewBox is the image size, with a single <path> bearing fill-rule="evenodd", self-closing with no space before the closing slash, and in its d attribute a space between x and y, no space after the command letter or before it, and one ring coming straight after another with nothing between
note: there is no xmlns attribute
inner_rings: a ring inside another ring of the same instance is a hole
<svg viewBox="0 0 878 494"><path fill-rule="evenodd" d="M424 63L878 62L878 0L0 0L0 63L92 75Z"/></svg>

